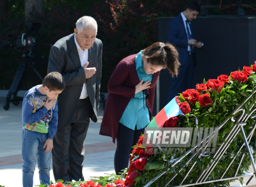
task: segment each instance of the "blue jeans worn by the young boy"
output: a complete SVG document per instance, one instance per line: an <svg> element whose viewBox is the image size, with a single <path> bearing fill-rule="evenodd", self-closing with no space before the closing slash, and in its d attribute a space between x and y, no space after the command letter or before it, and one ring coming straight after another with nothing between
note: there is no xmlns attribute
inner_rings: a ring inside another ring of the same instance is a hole
<svg viewBox="0 0 256 187"><path fill-rule="evenodd" d="M36 166L36 157L39 169L38 184L50 185L50 159L52 151L45 152L43 145L47 140L47 133L33 132L22 127L22 184L23 187L33 187L33 176Z"/></svg>

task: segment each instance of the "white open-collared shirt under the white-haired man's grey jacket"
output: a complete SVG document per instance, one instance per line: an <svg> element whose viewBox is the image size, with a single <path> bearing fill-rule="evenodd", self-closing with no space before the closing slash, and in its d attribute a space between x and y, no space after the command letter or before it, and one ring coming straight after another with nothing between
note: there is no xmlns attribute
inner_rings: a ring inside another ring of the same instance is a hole
<svg viewBox="0 0 256 187"><path fill-rule="evenodd" d="M80 58L80 62L81 62L81 67L83 67L83 65L86 64L86 62L88 62L88 49L85 49L84 51L81 49L81 47L78 45L77 41L76 41L76 35L74 36L75 39L75 43L76 43L76 47L78 50L78 55ZM88 97L88 93L87 93L87 89L86 89L86 83L83 84L83 89L80 95L79 99L85 99Z"/></svg>

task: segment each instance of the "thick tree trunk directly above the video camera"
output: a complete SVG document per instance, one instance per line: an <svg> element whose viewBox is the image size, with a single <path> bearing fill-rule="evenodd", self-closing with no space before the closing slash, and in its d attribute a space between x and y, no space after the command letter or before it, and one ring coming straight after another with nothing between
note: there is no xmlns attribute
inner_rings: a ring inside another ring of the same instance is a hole
<svg viewBox="0 0 256 187"><path fill-rule="evenodd" d="M44 0L25 0L26 22L38 22L44 15Z"/></svg>

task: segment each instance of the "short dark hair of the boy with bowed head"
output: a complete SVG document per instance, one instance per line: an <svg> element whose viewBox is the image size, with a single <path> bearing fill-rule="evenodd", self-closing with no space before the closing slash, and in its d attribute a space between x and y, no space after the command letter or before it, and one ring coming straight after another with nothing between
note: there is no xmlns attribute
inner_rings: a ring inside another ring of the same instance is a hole
<svg viewBox="0 0 256 187"><path fill-rule="evenodd" d="M43 87L47 86L50 91L64 90L65 81L59 72L50 72L43 79Z"/></svg>

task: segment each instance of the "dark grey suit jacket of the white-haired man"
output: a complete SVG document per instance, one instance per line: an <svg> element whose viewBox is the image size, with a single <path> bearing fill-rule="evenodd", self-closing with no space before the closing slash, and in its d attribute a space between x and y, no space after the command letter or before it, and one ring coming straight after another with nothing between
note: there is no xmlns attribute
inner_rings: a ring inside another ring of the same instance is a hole
<svg viewBox="0 0 256 187"><path fill-rule="evenodd" d="M90 112L90 118L93 122L97 122L102 66L102 42L100 39L95 39L92 47L88 50L88 55L88 67L95 67L96 73L86 79L74 42L74 34L59 39L50 50L47 73L59 72L66 83L66 88L58 97L58 125L60 127L66 127L73 117L84 83L86 83L87 92L92 103L93 110Z"/></svg>

